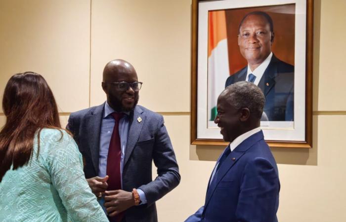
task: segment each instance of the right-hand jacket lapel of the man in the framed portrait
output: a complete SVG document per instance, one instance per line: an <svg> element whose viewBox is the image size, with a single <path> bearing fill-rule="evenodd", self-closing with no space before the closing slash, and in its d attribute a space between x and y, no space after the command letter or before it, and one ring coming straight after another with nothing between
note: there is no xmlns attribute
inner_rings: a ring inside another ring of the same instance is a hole
<svg viewBox="0 0 346 222"><path fill-rule="evenodd" d="M277 61L278 59L273 54L268 67L265 69L263 76L259 81L258 86L262 90L264 96L266 96L270 89L275 85L275 77L277 75Z"/></svg>

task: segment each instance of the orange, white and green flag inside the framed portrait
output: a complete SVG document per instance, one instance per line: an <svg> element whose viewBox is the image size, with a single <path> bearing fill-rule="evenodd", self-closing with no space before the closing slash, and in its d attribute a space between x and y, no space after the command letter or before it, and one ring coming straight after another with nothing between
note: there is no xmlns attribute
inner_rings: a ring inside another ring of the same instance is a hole
<svg viewBox="0 0 346 222"><path fill-rule="evenodd" d="M208 14L208 117L214 121L218 95L229 76L225 11Z"/></svg>

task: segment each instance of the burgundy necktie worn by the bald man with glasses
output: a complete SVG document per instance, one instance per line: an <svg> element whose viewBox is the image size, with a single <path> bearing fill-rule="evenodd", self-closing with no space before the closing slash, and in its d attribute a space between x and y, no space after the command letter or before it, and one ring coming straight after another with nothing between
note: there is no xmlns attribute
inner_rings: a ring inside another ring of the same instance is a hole
<svg viewBox="0 0 346 222"><path fill-rule="evenodd" d="M115 119L114 129L109 142L108 157L107 157L107 175L108 188L107 190L117 190L122 188L121 184L121 146L119 136L119 120L124 116L124 113L113 112L111 114ZM118 214L115 217L109 217L110 222L120 222L124 217L124 212Z"/></svg>

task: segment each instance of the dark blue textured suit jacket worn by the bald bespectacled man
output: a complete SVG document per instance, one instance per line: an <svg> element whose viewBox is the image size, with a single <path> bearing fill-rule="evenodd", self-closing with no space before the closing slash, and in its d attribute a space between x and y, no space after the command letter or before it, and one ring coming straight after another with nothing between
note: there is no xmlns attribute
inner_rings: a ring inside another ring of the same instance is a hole
<svg viewBox="0 0 346 222"><path fill-rule="evenodd" d="M85 158L86 178L98 176L100 129L104 104L71 113L67 128ZM140 117L142 120L137 121ZM152 161L158 177L152 181ZM163 116L137 105L130 114L124 156L123 190L141 189L147 204L129 208L126 222L157 222L155 201L180 182L178 165Z"/></svg>

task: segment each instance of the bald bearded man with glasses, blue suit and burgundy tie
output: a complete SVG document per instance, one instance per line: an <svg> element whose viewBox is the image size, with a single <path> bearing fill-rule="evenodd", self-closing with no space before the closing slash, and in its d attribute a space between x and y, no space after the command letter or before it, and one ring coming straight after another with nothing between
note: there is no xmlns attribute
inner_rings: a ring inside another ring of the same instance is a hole
<svg viewBox="0 0 346 222"><path fill-rule="evenodd" d="M137 105L141 85L130 63L107 63L107 101L71 113L67 125L84 157L87 182L111 222L157 222L155 201L180 182L163 116Z"/></svg>

